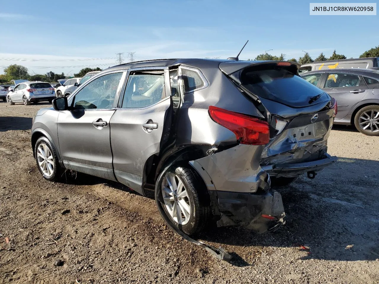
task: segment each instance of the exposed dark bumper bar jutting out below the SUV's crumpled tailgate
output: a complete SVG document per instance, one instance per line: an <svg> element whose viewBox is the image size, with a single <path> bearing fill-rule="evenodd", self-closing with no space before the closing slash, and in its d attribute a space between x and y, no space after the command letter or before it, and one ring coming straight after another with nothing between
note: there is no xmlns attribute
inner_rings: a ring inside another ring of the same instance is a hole
<svg viewBox="0 0 379 284"><path fill-rule="evenodd" d="M330 156L326 154L327 158L296 164L276 164L276 165L264 165L262 169L265 170L270 176L297 176L305 172L319 172L325 167L333 164L337 161L336 156Z"/></svg>

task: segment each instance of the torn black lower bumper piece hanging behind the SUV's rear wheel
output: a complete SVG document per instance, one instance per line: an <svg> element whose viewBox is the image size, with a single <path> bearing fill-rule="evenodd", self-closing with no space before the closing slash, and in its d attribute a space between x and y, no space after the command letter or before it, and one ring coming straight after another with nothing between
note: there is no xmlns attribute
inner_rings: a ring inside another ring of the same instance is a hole
<svg viewBox="0 0 379 284"><path fill-rule="evenodd" d="M282 196L276 190L260 194L218 191L217 194L221 212L218 226L240 225L263 233L276 231L285 223Z"/></svg>

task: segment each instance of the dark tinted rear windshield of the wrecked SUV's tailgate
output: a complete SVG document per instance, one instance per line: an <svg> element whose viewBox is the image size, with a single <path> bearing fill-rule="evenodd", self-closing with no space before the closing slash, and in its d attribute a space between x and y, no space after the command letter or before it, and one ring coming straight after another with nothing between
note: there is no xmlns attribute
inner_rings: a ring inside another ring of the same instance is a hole
<svg viewBox="0 0 379 284"><path fill-rule="evenodd" d="M312 83L282 68L250 68L243 70L239 76L241 84L253 94L284 105L309 105L310 98L323 93Z"/></svg>

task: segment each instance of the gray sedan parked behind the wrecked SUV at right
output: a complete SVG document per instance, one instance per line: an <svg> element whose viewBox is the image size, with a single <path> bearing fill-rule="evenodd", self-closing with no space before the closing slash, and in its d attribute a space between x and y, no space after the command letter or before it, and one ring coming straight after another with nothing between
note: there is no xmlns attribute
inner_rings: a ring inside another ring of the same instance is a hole
<svg viewBox="0 0 379 284"><path fill-rule="evenodd" d="M337 100L334 124L355 125L363 134L379 136L379 71L329 69L301 76Z"/></svg>

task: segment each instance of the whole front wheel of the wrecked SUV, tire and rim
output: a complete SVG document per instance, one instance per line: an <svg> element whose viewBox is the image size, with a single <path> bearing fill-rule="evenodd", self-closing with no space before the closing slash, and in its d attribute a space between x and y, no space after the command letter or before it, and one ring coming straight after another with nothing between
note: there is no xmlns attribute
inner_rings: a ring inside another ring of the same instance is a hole
<svg viewBox="0 0 379 284"><path fill-rule="evenodd" d="M49 139L45 136L40 137L36 142L34 154L38 170L42 176L48 181L58 181L63 169Z"/></svg>

